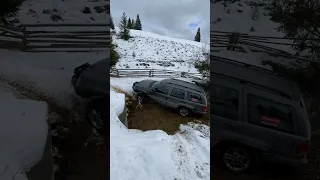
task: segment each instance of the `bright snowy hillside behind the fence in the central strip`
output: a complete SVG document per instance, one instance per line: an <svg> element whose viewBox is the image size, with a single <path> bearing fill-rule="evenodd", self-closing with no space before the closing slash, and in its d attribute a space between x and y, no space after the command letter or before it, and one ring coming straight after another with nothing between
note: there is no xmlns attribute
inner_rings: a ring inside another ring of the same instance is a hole
<svg viewBox="0 0 320 180"><path fill-rule="evenodd" d="M116 28L116 31L119 30ZM120 60L118 69L165 69L197 72L193 63L204 59L209 45L171 38L146 31L130 30L132 38L124 41L113 36Z"/></svg>

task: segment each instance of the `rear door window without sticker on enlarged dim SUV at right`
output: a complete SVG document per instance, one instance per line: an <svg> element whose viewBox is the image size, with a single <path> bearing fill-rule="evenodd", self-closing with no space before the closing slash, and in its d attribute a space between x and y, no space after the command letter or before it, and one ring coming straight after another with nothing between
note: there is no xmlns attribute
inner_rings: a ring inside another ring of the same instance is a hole
<svg viewBox="0 0 320 180"><path fill-rule="evenodd" d="M210 106L211 113L232 119L239 119L239 91L220 86L217 84L211 84L212 91L210 93Z"/></svg>

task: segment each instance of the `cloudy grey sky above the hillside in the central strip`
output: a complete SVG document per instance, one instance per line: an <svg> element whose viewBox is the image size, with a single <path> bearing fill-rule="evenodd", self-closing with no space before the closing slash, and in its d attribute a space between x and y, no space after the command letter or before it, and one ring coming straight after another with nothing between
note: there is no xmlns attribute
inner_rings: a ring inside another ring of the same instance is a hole
<svg viewBox="0 0 320 180"><path fill-rule="evenodd" d="M111 0L110 9L115 26L123 12L139 14L143 31L194 40L200 27L201 42L210 42L209 0Z"/></svg>

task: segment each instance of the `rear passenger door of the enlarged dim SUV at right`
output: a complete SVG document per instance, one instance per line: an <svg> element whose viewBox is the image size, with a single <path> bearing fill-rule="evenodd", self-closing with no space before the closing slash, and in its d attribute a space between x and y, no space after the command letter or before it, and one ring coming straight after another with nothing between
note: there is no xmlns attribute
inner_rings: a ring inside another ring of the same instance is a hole
<svg viewBox="0 0 320 180"><path fill-rule="evenodd" d="M238 83L211 77L210 118L213 138L237 141L242 134L240 96L242 89Z"/></svg>

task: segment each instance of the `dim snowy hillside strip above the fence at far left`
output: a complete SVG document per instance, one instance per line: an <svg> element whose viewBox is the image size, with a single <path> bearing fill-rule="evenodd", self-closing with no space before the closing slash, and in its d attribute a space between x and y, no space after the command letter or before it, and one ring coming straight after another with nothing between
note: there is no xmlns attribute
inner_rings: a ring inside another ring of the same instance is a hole
<svg viewBox="0 0 320 180"><path fill-rule="evenodd" d="M106 23L106 0L26 0L12 19L16 24Z"/></svg>

